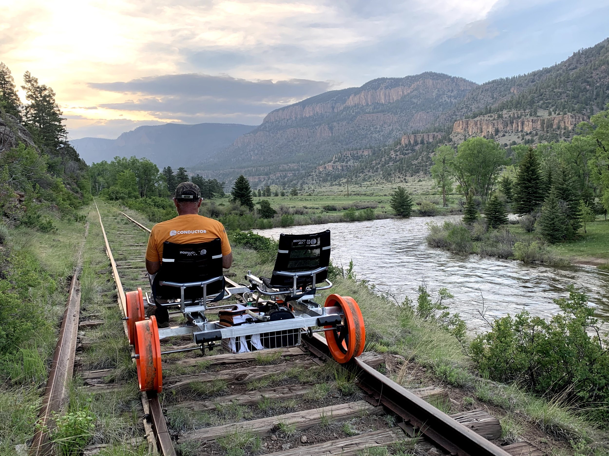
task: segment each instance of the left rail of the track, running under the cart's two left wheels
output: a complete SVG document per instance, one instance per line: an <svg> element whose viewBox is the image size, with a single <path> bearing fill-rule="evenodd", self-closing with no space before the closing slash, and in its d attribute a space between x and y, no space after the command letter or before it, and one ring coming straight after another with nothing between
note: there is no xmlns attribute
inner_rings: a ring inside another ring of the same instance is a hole
<svg viewBox="0 0 609 456"><path fill-rule="evenodd" d="M110 206L110 205L108 205ZM110 206L111 207L111 206ZM118 290L119 302L121 304L121 309L123 311L123 316L127 317L127 300L125 299L125 291L122 288L121 278L118 274L118 269L116 268L116 261L114 261L114 257L112 255L112 250L110 249L110 243L108 243L108 237L106 236L106 232L104 229L104 223L102 223L102 215L99 212L99 208L97 207L97 203L95 203L95 208L97 209L97 215L99 215L99 224L102 227L102 234L104 235L104 242L106 246L106 253L108 258L110 258L110 264L112 266L112 275L114 276L114 282L116 283L116 289ZM119 211L121 212L121 211ZM121 212L122 213L122 212ZM126 214L125 217L131 219ZM133 220L132 220L133 221ZM141 226L147 230L146 227ZM123 327L125 330L125 336L127 336L127 323L123 322ZM133 351L133 350L132 350ZM132 353L133 356L134 353ZM163 409L161 407L161 403L158 399L158 395L156 392L146 392L146 401L144 401L144 393L142 393L142 405L144 406L144 412L146 409L149 410L147 413L152 420L152 430L156 437L156 446L160 448L161 454L163 456L176 456L174 444L171 441L171 435L169 435L169 430L167 429L167 423L165 422L165 416L163 415ZM144 403L146 402L146 403ZM144 421L146 423L146 421Z"/></svg>

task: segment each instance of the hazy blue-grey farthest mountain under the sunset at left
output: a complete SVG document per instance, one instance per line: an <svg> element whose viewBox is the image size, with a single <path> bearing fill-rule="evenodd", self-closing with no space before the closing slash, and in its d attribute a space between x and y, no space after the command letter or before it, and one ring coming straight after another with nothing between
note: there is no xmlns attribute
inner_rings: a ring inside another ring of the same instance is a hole
<svg viewBox="0 0 609 456"><path fill-rule="evenodd" d="M70 141L88 163L111 161L115 156L147 157L163 168L188 167L227 148L242 134L256 128L239 123L197 123L139 126L117 139L85 137Z"/></svg>

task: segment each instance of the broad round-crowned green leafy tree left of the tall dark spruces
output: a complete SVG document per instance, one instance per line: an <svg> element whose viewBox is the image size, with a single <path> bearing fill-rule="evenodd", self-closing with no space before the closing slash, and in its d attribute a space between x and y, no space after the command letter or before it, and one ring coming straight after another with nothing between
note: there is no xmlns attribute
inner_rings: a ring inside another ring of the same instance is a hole
<svg viewBox="0 0 609 456"><path fill-rule="evenodd" d="M476 137L459 145L451 168L465 196L471 194L486 201L499 171L506 164L505 151L498 142Z"/></svg>

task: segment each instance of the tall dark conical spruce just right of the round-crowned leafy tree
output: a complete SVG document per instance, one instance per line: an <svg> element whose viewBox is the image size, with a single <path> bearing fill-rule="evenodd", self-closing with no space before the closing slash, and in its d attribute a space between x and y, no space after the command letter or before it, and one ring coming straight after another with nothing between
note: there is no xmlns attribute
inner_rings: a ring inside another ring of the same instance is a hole
<svg viewBox="0 0 609 456"><path fill-rule="evenodd" d="M512 209L519 215L537 210L543 202L539 161L532 147L524 154L513 185Z"/></svg>

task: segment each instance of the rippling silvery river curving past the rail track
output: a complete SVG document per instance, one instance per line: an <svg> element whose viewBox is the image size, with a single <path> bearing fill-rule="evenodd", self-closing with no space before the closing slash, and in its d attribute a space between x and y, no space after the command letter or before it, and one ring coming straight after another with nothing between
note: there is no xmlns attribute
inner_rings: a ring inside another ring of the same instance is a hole
<svg viewBox="0 0 609 456"><path fill-rule="evenodd" d="M593 266L548 267L499 258L466 257L429 247L426 223L442 224L460 216L413 217L364 222L331 223L256 230L278 239L280 233L331 230L334 264L345 269L353 260L357 278L365 278L401 302L416 299L417 288L446 287L454 295L451 313L458 312L471 331L487 330L479 314L484 298L488 320L527 310L551 317L560 310L553 299L567 297L574 284L590 297L599 317L609 320L609 272Z"/></svg>

